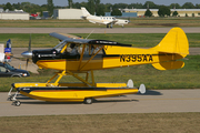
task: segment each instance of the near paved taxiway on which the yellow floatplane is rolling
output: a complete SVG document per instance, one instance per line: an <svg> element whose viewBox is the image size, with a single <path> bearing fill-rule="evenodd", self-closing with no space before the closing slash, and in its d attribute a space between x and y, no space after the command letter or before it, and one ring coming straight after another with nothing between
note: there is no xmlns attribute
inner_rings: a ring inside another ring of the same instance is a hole
<svg viewBox="0 0 200 133"><path fill-rule="evenodd" d="M150 90L144 95L98 99L93 104L42 102L19 95L20 106L11 105L7 94L0 93L0 116L200 112L200 89Z"/></svg>

